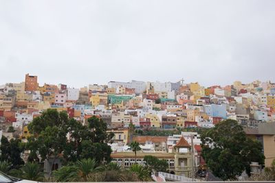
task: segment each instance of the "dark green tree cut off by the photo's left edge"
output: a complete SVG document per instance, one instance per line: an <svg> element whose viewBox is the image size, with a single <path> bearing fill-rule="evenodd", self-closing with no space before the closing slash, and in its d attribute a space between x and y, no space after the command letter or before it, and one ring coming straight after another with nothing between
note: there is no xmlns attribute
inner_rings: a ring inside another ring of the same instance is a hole
<svg viewBox="0 0 275 183"><path fill-rule="evenodd" d="M10 141L8 141L8 138L2 136L0 150L0 160L10 162L12 169L17 169L20 167L20 165L24 164L21 158L21 153L23 152L24 148L23 145L21 145L20 139L12 138Z"/></svg>

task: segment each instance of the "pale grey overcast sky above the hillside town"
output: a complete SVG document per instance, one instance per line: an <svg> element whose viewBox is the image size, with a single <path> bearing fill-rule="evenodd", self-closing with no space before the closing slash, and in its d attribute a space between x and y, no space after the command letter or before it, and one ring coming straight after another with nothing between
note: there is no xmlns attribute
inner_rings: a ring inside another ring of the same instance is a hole
<svg viewBox="0 0 275 183"><path fill-rule="evenodd" d="M0 84L275 82L275 1L0 1Z"/></svg>

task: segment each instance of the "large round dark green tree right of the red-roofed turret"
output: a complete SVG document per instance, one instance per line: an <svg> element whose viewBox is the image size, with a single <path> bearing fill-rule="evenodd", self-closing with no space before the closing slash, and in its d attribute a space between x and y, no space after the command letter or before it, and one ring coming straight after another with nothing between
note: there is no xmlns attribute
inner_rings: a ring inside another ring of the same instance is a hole
<svg viewBox="0 0 275 183"><path fill-rule="evenodd" d="M244 170L250 171L250 162L264 159L261 144L248 139L243 127L231 119L203 132L201 147L208 167L222 180L236 180Z"/></svg>

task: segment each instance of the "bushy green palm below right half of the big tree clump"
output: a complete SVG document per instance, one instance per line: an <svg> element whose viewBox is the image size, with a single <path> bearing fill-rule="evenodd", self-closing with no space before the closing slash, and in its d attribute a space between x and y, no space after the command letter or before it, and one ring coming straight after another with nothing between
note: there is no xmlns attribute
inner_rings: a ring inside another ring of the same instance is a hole
<svg viewBox="0 0 275 183"><path fill-rule="evenodd" d="M102 167L98 166L96 160L91 158L78 160L78 162L76 162L76 168L78 177L81 178L84 182L87 182L87 176L90 173L96 173L102 170Z"/></svg>

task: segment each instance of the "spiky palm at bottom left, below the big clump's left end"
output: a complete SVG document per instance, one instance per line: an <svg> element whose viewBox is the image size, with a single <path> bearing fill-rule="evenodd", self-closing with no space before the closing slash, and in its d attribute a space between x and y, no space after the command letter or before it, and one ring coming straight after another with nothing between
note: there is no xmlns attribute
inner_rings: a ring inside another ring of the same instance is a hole
<svg viewBox="0 0 275 183"><path fill-rule="evenodd" d="M22 168L22 178L26 180L42 181L44 178L40 164L27 162Z"/></svg>

